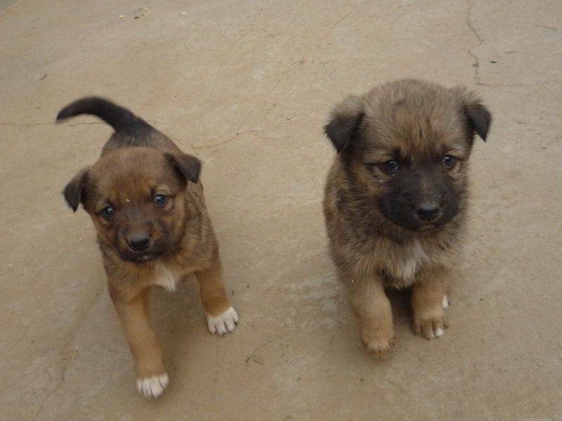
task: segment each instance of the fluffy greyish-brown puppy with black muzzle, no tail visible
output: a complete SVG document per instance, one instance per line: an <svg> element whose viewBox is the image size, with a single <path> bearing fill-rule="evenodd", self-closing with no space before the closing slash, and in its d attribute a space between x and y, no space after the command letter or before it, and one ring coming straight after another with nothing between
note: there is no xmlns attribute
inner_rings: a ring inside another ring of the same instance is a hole
<svg viewBox="0 0 562 421"><path fill-rule="evenodd" d="M384 288L412 287L414 331L447 327L450 272L462 241L468 161L491 116L473 93L399 80L351 95L325 133L338 154L325 188L329 250L365 347L394 344Z"/></svg>

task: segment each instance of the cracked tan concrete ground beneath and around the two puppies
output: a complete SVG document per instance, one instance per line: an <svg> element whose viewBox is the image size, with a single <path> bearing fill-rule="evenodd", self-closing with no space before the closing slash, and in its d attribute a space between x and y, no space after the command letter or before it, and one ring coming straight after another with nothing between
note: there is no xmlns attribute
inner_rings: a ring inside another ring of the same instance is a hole
<svg viewBox="0 0 562 421"><path fill-rule="evenodd" d="M0 4L2 420L562 420L561 1ZM451 327L414 336L397 295L377 361L327 257L322 124L403 76L474 88L495 122ZM157 401L136 392L89 217L60 196L111 130L55 114L94 93L204 161L241 316L214 338L194 281L154 294Z"/></svg>

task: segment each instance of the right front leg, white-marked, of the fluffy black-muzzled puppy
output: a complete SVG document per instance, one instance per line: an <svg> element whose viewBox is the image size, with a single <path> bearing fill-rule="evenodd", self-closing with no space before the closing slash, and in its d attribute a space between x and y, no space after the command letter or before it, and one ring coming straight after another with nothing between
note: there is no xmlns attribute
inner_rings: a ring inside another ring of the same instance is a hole
<svg viewBox="0 0 562 421"><path fill-rule="evenodd" d="M421 269L412 288L414 332L427 339L441 338L447 328L444 310L449 306L445 267Z"/></svg>

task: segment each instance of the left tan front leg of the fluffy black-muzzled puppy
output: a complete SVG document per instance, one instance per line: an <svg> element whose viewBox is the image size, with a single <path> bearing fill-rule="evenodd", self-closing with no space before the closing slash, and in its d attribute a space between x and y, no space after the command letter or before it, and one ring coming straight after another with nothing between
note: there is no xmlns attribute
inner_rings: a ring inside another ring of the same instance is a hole
<svg viewBox="0 0 562 421"><path fill-rule="evenodd" d="M363 345L375 356L386 356L395 345L395 335L391 302L381 276L351 279L346 284Z"/></svg>

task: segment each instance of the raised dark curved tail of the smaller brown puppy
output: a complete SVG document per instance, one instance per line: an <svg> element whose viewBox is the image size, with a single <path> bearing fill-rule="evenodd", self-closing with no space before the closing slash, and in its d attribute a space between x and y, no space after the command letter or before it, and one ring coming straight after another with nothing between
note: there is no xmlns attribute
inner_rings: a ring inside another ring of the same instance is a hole
<svg viewBox="0 0 562 421"><path fill-rule="evenodd" d="M116 132L135 131L143 128L150 128L143 119L137 117L124 107L100 97L86 97L74 101L60 110L57 114L57 123L70 117L81 114L91 114L98 116L107 124L112 126Z"/></svg>

